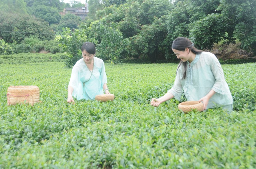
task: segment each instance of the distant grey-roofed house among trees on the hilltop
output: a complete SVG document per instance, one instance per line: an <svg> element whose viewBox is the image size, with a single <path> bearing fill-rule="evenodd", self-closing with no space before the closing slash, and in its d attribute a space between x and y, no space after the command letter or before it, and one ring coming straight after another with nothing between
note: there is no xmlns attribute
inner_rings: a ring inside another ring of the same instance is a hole
<svg viewBox="0 0 256 169"><path fill-rule="evenodd" d="M74 14L76 16L81 17L81 19L85 19L89 13L89 5L88 3L85 3L84 7L67 7L64 8L63 13L60 13L61 15L66 15L66 14Z"/></svg>

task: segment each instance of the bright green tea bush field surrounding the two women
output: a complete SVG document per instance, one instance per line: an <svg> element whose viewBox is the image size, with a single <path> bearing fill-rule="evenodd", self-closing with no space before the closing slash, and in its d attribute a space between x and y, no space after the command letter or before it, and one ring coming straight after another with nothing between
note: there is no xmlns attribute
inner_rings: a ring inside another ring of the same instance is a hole
<svg viewBox="0 0 256 169"><path fill-rule="evenodd" d="M68 104L64 62L1 59L0 168L256 168L256 63L222 65L232 113L184 114L174 99L149 104L172 87L175 63L106 63L114 101ZM8 106L14 85L38 86L40 102Z"/></svg>

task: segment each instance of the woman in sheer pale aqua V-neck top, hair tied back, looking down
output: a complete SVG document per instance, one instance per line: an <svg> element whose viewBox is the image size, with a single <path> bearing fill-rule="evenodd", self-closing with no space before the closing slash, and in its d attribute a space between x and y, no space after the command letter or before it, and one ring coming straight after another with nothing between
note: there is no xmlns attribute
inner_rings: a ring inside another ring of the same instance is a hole
<svg viewBox="0 0 256 169"><path fill-rule="evenodd" d="M107 77L103 60L95 57L95 45L85 42L81 48L83 58L77 61L72 69L68 86L68 100L95 99L96 95L110 94L106 85Z"/></svg>

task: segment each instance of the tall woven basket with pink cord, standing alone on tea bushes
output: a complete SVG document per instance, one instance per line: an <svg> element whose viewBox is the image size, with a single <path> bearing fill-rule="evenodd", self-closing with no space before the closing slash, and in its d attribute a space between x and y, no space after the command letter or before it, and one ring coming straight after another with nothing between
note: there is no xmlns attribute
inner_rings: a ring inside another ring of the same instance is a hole
<svg viewBox="0 0 256 169"><path fill-rule="evenodd" d="M39 88L37 86L10 86L7 89L7 104L30 104L39 102Z"/></svg>

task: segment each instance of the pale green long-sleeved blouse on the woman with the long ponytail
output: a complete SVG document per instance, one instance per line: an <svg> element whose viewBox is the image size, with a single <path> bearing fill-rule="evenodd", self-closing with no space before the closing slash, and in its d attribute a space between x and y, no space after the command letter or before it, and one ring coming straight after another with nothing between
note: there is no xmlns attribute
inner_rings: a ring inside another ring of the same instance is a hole
<svg viewBox="0 0 256 169"><path fill-rule="evenodd" d="M197 54L190 63L187 61L186 78L183 79L184 66L177 70L174 86L168 91L178 100L184 91L188 101L199 100L210 90L216 93L210 98L207 109L215 105L225 106L233 103L233 99L224 78L224 73L216 56L209 52Z"/></svg>

